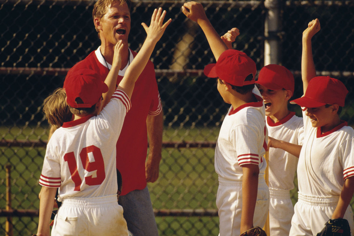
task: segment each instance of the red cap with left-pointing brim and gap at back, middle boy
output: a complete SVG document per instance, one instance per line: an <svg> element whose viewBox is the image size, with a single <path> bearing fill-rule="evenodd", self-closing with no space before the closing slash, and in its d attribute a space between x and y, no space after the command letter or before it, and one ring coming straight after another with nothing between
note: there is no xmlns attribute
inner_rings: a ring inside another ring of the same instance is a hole
<svg viewBox="0 0 354 236"><path fill-rule="evenodd" d="M204 68L207 77L219 77L235 86L254 84L256 72L256 63L244 52L234 49L224 51L216 63ZM252 75L252 79L245 81L249 75Z"/></svg>

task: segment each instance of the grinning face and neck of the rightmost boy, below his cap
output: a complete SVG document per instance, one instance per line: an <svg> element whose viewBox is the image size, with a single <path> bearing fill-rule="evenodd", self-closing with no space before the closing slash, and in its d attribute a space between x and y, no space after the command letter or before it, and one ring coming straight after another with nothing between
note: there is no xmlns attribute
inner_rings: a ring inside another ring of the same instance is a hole
<svg viewBox="0 0 354 236"><path fill-rule="evenodd" d="M312 127L321 127L322 133L326 133L341 123L337 114L339 106L333 104L329 107L325 105L314 108L306 108L306 116L310 118Z"/></svg>

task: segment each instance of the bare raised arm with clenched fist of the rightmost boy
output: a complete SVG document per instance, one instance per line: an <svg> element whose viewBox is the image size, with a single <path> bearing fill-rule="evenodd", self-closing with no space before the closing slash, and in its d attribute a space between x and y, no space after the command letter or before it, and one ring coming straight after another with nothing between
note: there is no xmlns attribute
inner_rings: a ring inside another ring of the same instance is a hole
<svg viewBox="0 0 354 236"><path fill-rule="evenodd" d="M316 18L308 23L307 29L302 33L302 57L301 57L301 76L304 87L304 94L309 81L316 76L315 63L312 56L311 39L321 29L320 21Z"/></svg>

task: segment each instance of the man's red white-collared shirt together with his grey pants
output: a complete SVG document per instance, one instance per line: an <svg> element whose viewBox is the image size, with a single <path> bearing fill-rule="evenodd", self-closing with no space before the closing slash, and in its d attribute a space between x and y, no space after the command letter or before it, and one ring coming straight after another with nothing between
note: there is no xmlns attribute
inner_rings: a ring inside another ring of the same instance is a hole
<svg viewBox="0 0 354 236"><path fill-rule="evenodd" d="M122 80L130 62L136 56L136 52L132 50L129 52L129 63L124 69L119 71L117 85ZM100 47L98 47L96 51L91 52L84 60L75 64L68 74L81 68L89 68L96 71L99 78L104 80L111 65L105 61ZM162 111L154 64L151 61L147 63L135 83L131 104L132 109L126 114L118 142L116 142L116 167L122 176L122 192L119 197L119 204L124 209L124 218L133 235L143 234L140 231L135 231L139 226L141 226L142 231L148 231L147 234L149 235L158 235L145 177L145 160L148 145L146 119L148 115L156 116ZM112 131L116 130L112 129ZM136 201L136 198L143 201Z"/></svg>

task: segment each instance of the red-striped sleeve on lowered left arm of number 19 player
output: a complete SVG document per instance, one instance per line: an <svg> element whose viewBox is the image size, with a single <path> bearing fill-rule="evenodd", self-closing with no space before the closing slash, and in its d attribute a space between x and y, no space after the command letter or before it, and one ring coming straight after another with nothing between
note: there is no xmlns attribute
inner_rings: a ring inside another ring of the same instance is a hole
<svg viewBox="0 0 354 236"><path fill-rule="evenodd" d="M47 145L39 184L45 187L60 187L60 161L51 144L52 142L49 142Z"/></svg>

